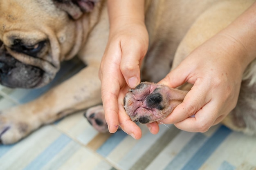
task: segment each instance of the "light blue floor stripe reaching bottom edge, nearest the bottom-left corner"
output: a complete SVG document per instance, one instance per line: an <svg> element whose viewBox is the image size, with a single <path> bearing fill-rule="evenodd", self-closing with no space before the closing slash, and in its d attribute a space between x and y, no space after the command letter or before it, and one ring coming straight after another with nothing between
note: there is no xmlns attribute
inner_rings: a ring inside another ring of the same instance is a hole
<svg viewBox="0 0 256 170"><path fill-rule="evenodd" d="M40 170L51 159L53 159L67 144L72 141L66 135L61 135L51 145L49 145L38 157L36 157L27 167L23 170Z"/></svg>

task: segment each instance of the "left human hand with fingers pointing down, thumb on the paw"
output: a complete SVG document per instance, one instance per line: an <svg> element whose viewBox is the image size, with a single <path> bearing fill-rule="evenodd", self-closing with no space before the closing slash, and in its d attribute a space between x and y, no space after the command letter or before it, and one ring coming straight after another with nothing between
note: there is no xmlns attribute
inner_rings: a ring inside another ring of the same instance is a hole
<svg viewBox="0 0 256 170"><path fill-rule="evenodd" d="M110 30L99 70L106 122L111 133L120 125L126 133L139 139L141 130L126 114L123 100L128 89L140 83L140 65L148 50L148 32L144 22L139 20L119 22Z"/></svg>

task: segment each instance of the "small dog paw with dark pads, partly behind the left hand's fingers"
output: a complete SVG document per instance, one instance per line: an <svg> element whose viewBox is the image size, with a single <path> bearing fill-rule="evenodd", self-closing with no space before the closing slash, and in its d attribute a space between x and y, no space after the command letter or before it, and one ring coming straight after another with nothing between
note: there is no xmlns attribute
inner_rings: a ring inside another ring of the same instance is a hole
<svg viewBox="0 0 256 170"><path fill-rule="evenodd" d="M84 116L96 130L102 133L108 132L108 124L105 120L105 113L102 105L89 108L84 113Z"/></svg>

